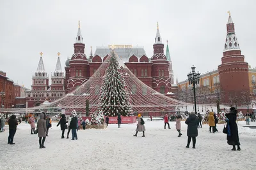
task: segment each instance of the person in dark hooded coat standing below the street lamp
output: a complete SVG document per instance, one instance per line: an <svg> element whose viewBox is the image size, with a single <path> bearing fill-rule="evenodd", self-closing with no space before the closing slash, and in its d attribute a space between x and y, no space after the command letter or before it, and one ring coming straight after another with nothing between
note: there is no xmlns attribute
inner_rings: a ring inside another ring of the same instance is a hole
<svg viewBox="0 0 256 170"><path fill-rule="evenodd" d="M187 118L185 124L188 125L188 129L187 129L187 136L188 136L188 144L186 146L186 148L189 148L190 142L191 142L191 138L193 141L193 148L196 148L196 137L198 136L198 130L197 130L197 124L198 124L198 120L197 117L195 115L195 112L191 112L189 117Z"/></svg>

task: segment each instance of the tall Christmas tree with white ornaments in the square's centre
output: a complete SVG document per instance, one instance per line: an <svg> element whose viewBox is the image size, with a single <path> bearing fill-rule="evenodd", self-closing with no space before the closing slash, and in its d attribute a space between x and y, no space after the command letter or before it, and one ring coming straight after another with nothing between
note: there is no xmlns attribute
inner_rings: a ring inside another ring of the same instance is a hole
<svg viewBox="0 0 256 170"><path fill-rule="evenodd" d="M124 74L122 74L122 67L119 67L114 51L111 53L109 67L106 69L102 82L99 101L99 109L92 115L92 124L99 124L98 121L95 122L95 119L101 120L100 117L103 115L109 117L115 117L118 113L124 117L132 115Z"/></svg>

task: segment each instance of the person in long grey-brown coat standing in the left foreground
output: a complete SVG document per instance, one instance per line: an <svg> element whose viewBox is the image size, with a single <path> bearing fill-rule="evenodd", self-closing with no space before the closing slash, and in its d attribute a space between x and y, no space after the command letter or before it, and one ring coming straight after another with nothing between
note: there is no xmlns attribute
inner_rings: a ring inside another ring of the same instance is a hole
<svg viewBox="0 0 256 170"><path fill-rule="evenodd" d="M48 133L47 126L46 126L46 120L44 113L40 114L40 119L37 122L37 131L38 131L38 137L39 137L39 148L45 148L44 142L46 138L46 134ZM43 140L42 140L43 138Z"/></svg>

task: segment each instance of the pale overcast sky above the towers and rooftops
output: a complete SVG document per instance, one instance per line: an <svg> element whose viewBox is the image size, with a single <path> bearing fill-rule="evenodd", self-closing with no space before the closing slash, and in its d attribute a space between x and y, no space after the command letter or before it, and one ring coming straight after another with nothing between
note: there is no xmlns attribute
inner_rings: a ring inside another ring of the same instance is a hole
<svg viewBox="0 0 256 170"><path fill-rule="evenodd" d="M228 13L245 60L252 67L255 58L256 1L0 1L0 70L15 83L31 87L40 52L51 74L61 53L65 60L74 53L77 23L86 45L120 44L144 46L153 54L157 22L163 42L170 48L173 71L179 81L190 67L205 73L221 64L227 34Z"/></svg>

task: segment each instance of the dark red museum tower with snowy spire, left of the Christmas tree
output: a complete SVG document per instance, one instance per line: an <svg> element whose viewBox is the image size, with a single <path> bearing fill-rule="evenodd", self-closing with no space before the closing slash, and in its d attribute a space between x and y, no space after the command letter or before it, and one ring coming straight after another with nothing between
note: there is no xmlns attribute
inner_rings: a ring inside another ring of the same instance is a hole
<svg viewBox="0 0 256 170"><path fill-rule="evenodd" d="M74 54L70 60L66 61L66 93L77 89L77 87L82 85L90 77L90 66L84 54L84 48L85 45L83 43L79 21L76 42L74 43Z"/></svg>

